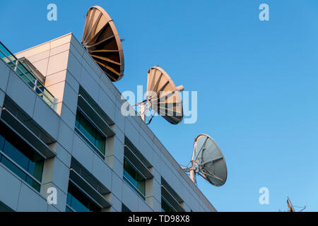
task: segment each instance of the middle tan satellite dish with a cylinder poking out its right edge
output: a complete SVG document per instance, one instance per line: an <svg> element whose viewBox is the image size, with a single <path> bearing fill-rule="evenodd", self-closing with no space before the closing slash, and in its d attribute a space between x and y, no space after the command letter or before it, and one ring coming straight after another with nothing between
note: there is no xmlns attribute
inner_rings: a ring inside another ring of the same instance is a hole
<svg viewBox="0 0 318 226"><path fill-rule="evenodd" d="M146 100L140 105L141 118L146 124L153 119L147 116L150 109L160 114L171 124L179 124L183 119L183 107L180 93L184 90L183 85L175 86L170 76L160 68L153 66L148 70Z"/></svg>

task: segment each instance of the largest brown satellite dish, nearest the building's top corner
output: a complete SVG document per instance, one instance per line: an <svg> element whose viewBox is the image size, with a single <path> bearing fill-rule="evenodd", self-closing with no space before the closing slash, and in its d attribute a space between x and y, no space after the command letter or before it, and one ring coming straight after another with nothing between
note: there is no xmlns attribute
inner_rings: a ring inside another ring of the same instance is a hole
<svg viewBox="0 0 318 226"><path fill-rule="evenodd" d="M114 22L100 6L88 9L82 44L111 81L124 76L124 52Z"/></svg>

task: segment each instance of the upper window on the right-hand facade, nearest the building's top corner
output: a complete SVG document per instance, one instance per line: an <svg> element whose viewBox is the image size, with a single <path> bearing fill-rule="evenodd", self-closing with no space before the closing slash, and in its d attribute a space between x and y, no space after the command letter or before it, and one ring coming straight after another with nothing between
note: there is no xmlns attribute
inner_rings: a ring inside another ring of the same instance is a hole
<svg viewBox="0 0 318 226"><path fill-rule="evenodd" d="M100 157L105 158L106 137L100 133L95 124L81 109L76 112L75 131L81 136Z"/></svg>

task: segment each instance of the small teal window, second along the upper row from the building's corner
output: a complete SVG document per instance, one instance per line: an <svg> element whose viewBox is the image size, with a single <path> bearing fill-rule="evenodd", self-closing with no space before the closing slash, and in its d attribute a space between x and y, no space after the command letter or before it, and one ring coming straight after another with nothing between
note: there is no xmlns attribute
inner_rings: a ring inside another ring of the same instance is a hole
<svg viewBox="0 0 318 226"><path fill-rule="evenodd" d="M126 181L143 200L146 199L146 179L126 158L124 159L124 181Z"/></svg>

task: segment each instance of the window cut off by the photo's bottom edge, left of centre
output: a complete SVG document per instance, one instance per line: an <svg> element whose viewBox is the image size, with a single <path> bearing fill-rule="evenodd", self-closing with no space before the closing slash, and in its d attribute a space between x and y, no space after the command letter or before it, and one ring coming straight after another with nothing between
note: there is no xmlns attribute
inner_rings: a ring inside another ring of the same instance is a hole
<svg viewBox="0 0 318 226"><path fill-rule="evenodd" d="M83 194L73 183L69 182L66 200L66 212L100 212L101 208Z"/></svg>

